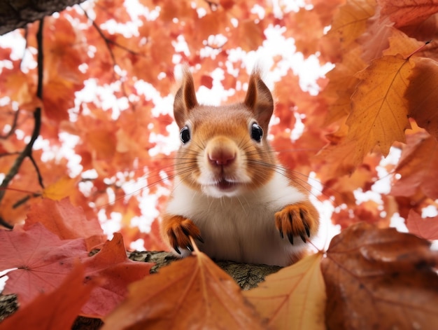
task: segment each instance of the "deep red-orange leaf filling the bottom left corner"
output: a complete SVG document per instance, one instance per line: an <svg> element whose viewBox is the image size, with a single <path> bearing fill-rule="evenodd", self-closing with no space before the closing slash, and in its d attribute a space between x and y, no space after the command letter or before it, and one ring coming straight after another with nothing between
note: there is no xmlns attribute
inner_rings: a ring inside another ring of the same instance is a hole
<svg viewBox="0 0 438 330"><path fill-rule="evenodd" d="M39 294L31 303L21 306L0 323L0 329L71 329L80 308L97 285L96 281L84 284L84 274L85 266L76 263L55 291Z"/></svg>

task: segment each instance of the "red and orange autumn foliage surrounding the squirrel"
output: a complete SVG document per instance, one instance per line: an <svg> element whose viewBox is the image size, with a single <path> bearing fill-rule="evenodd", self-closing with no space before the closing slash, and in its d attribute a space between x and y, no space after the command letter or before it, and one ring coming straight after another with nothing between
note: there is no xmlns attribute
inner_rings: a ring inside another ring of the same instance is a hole
<svg viewBox="0 0 438 330"><path fill-rule="evenodd" d="M128 2L0 38L0 271L13 268L3 294L20 303L0 329L68 329L77 315L103 329L437 329L438 217L424 211L438 199L438 1ZM271 34L283 39L267 56ZM295 51L332 68L313 89ZM148 275L126 249L165 248L174 75L188 63L199 94L222 86L233 102L243 55L276 75L278 157L342 231L250 291L201 252ZM409 233L388 228L399 217Z"/></svg>

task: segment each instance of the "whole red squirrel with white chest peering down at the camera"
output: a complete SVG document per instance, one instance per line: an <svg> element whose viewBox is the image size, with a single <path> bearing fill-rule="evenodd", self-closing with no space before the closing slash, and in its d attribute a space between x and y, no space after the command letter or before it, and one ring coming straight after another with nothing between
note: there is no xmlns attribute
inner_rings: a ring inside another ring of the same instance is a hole
<svg viewBox="0 0 438 330"><path fill-rule="evenodd" d="M288 266L306 254L319 214L267 141L274 100L255 69L242 103L198 104L185 69L174 100L181 147L161 223L178 256L193 248L212 259Z"/></svg>

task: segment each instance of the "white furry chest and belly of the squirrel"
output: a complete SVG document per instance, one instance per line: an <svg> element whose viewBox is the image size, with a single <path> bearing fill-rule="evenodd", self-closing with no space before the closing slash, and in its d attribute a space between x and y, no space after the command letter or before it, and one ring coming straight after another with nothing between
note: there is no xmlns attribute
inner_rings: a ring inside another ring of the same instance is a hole
<svg viewBox="0 0 438 330"><path fill-rule="evenodd" d="M185 216L199 227L204 243L198 247L213 259L286 266L290 259L285 252L305 246L299 240L290 245L276 230L274 213L305 199L281 174L234 197L213 198L178 182L172 195L167 212Z"/></svg>

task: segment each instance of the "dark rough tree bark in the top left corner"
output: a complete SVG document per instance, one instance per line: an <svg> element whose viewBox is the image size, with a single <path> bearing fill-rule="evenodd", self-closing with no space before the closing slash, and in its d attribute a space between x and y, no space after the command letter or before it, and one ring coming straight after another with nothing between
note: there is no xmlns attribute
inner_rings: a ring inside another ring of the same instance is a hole
<svg viewBox="0 0 438 330"><path fill-rule="evenodd" d="M84 0L0 0L0 35Z"/></svg>

